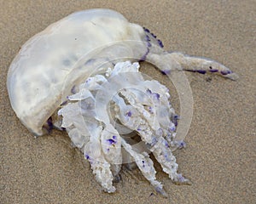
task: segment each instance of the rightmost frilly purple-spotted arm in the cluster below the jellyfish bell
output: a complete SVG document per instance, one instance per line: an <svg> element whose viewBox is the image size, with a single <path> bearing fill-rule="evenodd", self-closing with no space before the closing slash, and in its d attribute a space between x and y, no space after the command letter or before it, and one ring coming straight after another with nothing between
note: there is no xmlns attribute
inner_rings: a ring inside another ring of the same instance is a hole
<svg viewBox="0 0 256 204"><path fill-rule="evenodd" d="M158 93L154 92L156 87L159 89ZM169 137L170 135L168 134L174 133L175 129L172 129L174 124L170 120L174 111L172 112L172 108L167 102L167 89L164 86L160 86L158 82L145 81L140 84L140 91L142 90L144 95L148 95L153 100L155 111L152 111L152 109L147 110L147 100L143 98L142 93L127 88L120 91L129 105L119 106L119 120L129 128L137 131L143 142L148 144L148 150L153 152L163 171L169 174L169 177L174 182L188 183L189 180L187 178L183 178L182 174L177 173L176 158L172 155L172 150L170 150L175 134L172 137ZM127 116L125 117L127 111L131 112L131 116L128 116L128 121ZM169 139L170 142L167 142L165 138Z"/></svg>

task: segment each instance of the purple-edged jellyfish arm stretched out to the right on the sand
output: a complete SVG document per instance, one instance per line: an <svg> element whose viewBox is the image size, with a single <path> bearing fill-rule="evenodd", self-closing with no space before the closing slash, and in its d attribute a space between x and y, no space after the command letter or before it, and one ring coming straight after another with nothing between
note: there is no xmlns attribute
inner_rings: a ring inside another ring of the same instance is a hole
<svg viewBox="0 0 256 204"><path fill-rule="evenodd" d="M163 43L152 32L144 28L145 42L147 42L148 53L145 59L156 65L163 74L171 71L192 71L200 74L215 73L221 77L236 80L238 76L228 67L212 59L204 57L189 56L180 52L166 52Z"/></svg>

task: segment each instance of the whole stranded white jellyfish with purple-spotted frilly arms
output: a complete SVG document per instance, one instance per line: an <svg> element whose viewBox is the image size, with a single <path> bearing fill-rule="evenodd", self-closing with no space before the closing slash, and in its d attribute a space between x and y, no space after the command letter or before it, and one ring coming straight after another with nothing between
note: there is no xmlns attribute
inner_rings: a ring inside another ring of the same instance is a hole
<svg viewBox="0 0 256 204"><path fill-rule="evenodd" d="M148 29L113 10L70 14L20 48L8 73L11 105L36 135L45 133L44 124L58 111L61 126L90 161L104 190L115 190L113 176L119 173L126 154L164 194L148 152L153 152L172 180L187 182L177 173L170 150L176 145L177 122L168 90L143 77L137 61L147 60L164 74L172 70L208 71L231 79L236 79L236 74L211 59L162 48L162 42ZM139 147L125 138L127 131L140 135Z"/></svg>

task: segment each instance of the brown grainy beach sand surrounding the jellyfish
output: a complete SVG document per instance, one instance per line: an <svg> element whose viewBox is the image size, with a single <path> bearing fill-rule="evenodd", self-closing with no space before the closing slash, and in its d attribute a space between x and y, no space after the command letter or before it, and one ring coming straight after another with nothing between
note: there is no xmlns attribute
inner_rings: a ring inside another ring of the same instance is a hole
<svg viewBox="0 0 256 204"><path fill-rule="evenodd" d="M121 173L116 193L102 192L66 133L35 139L11 109L6 75L20 46L50 23L87 8L113 8L154 31L166 50L216 59L240 76L232 82L186 73L194 115L187 148L175 155L179 172L193 184L172 184L156 164L168 198L156 195L137 170ZM0 203L255 203L255 11L253 0L1 0Z"/></svg>

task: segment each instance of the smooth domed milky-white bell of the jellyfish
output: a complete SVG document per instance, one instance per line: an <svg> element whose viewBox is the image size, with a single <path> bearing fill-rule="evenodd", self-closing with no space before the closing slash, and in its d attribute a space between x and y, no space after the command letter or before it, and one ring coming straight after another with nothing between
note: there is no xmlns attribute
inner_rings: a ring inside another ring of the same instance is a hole
<svg viewBox="0 0 256 204"><path fill-rule="evenodd" d="M21 122L33 133L42 134L44 122L61 104L65 78L75 63L84 56L95 59L109 43L141 41L143 32L117 12L93 9L71 14L32 37L10 65L7 82L12 107ZM119 54L118 49L110 52ZM84 65L84 76L92 69L96 67Z"/></svg>

